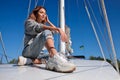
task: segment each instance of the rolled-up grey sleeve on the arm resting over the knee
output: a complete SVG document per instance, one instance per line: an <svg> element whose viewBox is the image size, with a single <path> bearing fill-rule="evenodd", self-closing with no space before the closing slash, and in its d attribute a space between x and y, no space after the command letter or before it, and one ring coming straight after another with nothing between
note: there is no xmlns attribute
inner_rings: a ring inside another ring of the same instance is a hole
<svg viewBox="0 0 120 80"><path fill-rule="evenodd" d="M28 19L25 22L25 33L30 35L36 35L43 31L43 24L37 23L32 19Z"/></svg>

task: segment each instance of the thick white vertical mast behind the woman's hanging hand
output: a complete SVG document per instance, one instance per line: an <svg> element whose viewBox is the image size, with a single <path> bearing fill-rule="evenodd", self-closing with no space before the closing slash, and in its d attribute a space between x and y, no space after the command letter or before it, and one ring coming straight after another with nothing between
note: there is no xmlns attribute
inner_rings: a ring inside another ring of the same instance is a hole
<svg viewBox="0 0 120 80"><path fill-rule="evenodd" d="M65 7L64 0L60 0L60 28L65 31ZM65 42L60 40L60 52L65 53Z"/></svg>

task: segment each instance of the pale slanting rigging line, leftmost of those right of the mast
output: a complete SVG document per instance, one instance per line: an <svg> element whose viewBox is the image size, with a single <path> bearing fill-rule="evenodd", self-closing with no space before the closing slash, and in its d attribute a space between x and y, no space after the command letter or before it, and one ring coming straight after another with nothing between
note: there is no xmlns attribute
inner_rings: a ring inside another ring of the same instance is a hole
<svg viewBox="0 0 120 80"><path fill-rule="evenodd" d="M93 29L93 31L94 31L94 34L95 34L95 36L96 36L98 45L99 45L99 47L100 47L100 51L101 51L101 53L102 53L102 56L103 56L103 58L104 58L104 61L106 61L106 58L105 58L105 55L104 55L104 52L103 52L101 43L100 43L100 41L99 41L99 37L98 37L98 35L97 35L96 29L95 29L95 27L94 27L94 24L93 24L93 21L92 21L92 19L91 19L91 16L90 16L90 13L89 13L89 11L88 11L87 4L86 4L86 1L85 1L85 0L84 0L84 4L85 4L86 12L87 12L87 14L88 14L88 18L89 18L90 23L91 23L91 25L92 25L92 29Z"/></svg>

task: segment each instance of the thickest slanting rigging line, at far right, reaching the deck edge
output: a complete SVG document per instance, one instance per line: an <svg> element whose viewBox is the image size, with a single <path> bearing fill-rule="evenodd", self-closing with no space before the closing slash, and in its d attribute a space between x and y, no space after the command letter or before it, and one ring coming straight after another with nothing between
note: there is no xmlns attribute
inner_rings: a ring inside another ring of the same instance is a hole
<svg viewBox="0 0 120 80"><path fill-rule="evenodd" d="M108 20L108 17L107 17L107 12L106 12L106 8L105 8L104 0L100 0L100 3L101 3L104 19L105 19L105 22L106 22L106 27L107 27L107 30L108 30L108 36L109 36L109 39L110 39L112 52L113 52L113 55L114 55L115 67L116 67L116 69L119 73L116 51L115 51L115 47L114 47L114 43L113 43L113 39L112 39L112 33L111 33L111 29L110 29L109 20Z"/></svg>

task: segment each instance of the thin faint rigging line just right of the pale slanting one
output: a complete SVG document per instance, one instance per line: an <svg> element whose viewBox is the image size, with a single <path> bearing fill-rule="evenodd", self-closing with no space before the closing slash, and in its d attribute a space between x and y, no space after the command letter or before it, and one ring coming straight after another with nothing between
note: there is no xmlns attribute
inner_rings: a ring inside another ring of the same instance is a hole
<svg viewBox="0 0 120 80"><path fill-rule="evenodd" d="M108 44L107 44L107 40L106 40L105 37L103 36L103 33L102 33L101 29L100 29L100 25L99 25L99 23L98 23L98 20L97 20L97 18L96 18L96 16L95 16L95 13L94 13L94 11L93 11L93 9L92 9L92 6L91 6L89 0L87 0L87 3L88 3L88 6L90 7L90 9L91 9L91 11L92 11L93 17L94 17L94 19L95 19L95 21L96 21L96 23L97 23L98 30L100 31L100 34L101 34L101 36L102 36L102 38L103 38L103 41L105 42L105 44L106 44L106 46L107 46L108 52L110 52L110 51L109 51L109 50L110 50L110 49L109 49L109 46L108 46Z"/></svg>

